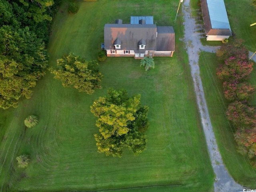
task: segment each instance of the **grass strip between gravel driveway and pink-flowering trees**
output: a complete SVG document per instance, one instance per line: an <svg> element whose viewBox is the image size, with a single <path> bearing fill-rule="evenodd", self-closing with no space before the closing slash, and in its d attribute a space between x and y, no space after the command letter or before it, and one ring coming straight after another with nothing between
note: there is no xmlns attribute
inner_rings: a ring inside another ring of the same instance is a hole
<svg viewBox="0 0 256 192"><path fill-rule="evenodd" d="M228 102L224 98L222 83L216 76L218 66L216 54L201 52L199 66L212 126L224 164L236 182L255 188L256 170L250 166L247 156L242 156L236 152L236 142L233 135L235 130L224 114ZM252 72L252 80L256 80L255 69ZM255 101L256 98L254 98L254 104Z"/></svg>

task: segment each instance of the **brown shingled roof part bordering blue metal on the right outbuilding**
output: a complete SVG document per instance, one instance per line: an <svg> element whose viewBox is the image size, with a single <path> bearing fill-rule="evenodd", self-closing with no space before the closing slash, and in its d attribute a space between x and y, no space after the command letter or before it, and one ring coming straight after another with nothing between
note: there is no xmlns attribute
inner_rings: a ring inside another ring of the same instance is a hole
<svg viewBox="0 0 256 192"><path fill-rule="evenodd" d="M207 0L201 0L201 8L202 8L204 28L205 28L206 35L232 36L232 33L229 29L213 29L212 28Z"/></svg>

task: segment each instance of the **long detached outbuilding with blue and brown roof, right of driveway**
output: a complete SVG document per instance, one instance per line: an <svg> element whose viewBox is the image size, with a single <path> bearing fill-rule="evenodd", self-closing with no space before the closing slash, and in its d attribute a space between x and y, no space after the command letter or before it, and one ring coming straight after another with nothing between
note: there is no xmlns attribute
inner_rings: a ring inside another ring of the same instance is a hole
<svg viewBox="0 0 256 192"><path fill-rule="evenodd" d="M201 0L206 40L222 41L232 36L224 0Z"/></svg>

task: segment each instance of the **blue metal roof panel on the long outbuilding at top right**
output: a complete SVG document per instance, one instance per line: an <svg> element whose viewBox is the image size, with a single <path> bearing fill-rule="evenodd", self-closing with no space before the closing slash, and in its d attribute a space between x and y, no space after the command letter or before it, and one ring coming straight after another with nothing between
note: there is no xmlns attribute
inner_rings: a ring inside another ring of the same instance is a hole
<svg viewBox="0 0 256 192"><path fill-rule="evenodd" d="M207 0L212 29L229 29L230 24L224 0Z"/></svg>

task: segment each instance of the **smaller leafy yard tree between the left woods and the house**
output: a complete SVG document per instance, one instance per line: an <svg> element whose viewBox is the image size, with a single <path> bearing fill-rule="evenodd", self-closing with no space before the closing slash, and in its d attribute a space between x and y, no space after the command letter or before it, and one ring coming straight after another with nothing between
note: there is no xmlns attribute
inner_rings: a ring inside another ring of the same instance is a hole
<svg viewBox="0 0 256 192"><path fill-rule="evenodd" d="M74 54L64 54L63 58L57 60L60 69L51 68L54 78L62 81L64 87L74 86L79 92L92 94L94 89L100 89L100 81L103 76L99 72L98 63L87 61L85 58Z"/></svg>

